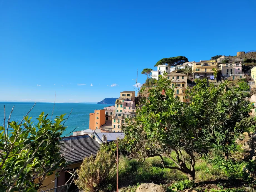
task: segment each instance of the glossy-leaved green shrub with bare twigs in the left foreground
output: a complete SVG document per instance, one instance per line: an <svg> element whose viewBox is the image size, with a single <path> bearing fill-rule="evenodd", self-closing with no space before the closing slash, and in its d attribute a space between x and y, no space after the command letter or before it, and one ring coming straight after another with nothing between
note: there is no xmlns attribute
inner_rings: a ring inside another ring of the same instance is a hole
<svg viewBox="0 0 256 192"><path fill-rule="evenodd" d="M59 151L64 115L54 121L47 115L42 112L36 124L28 114L20 123L9 118L7 126L0 127L0 191L37 191L47 175L65 166Z"/></svg>

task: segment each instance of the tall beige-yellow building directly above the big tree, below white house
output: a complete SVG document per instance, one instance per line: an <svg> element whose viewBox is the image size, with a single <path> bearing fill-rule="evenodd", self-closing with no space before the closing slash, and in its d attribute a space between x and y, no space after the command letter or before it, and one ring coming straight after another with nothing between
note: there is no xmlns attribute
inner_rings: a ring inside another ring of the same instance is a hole
<svg viewBox="0 0 256 192"><path fill-rule="evenodd" d="M174 87L174 97L185 102L185 91L187 87L187 75L182 73L170 73L167 75L171 79L172 87Z"/></svg>

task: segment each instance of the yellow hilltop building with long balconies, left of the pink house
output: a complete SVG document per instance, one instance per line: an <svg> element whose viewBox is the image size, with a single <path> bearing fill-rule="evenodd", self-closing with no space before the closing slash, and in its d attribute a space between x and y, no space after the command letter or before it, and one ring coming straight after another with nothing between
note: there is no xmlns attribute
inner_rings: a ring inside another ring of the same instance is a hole
<svg viewBox="0 0 256 192"><path fill-rule="evenodd" d="M193 78L210 78L213 76L213 68L218 68L218 63L215 60L200 60L192 65Z"/></svg>

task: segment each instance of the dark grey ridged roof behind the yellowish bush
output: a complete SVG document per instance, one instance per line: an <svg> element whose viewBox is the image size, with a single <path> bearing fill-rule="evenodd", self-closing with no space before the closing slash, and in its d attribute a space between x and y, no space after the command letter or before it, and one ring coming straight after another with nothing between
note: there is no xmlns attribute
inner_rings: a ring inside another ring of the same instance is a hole
<svg viewBox="0 0 256 192"><path fill-rule="evenodd" d="M100 144L88 135L63 137L60 141L60 151L66 161L77 163L85 157L96 156Z"/></svg>

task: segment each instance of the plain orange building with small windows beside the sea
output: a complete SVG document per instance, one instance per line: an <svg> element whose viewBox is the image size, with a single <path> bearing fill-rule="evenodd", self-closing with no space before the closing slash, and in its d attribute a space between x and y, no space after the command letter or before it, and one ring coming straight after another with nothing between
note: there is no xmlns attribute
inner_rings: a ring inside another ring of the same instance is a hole
<svg viewBox="0 0 256 192"><path fill-rule="evenodd" d="M100 129L100 126L105 124L105 109L96 109L89 116L89 129Z"/></svg>

